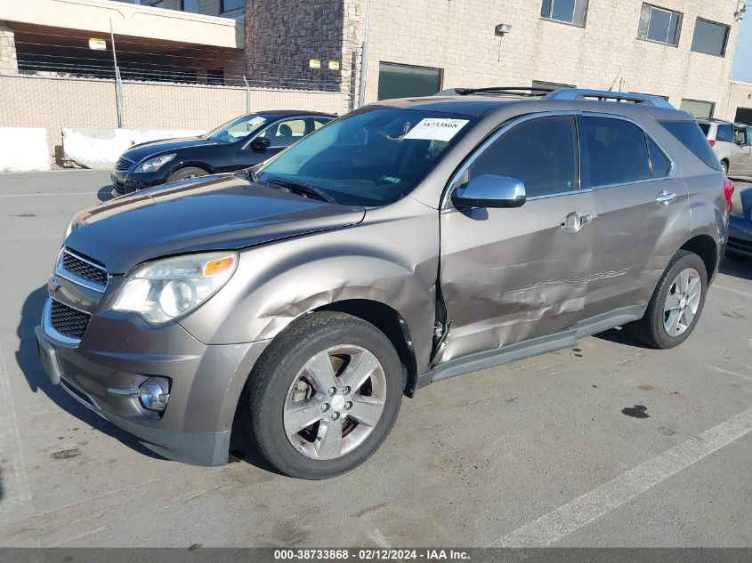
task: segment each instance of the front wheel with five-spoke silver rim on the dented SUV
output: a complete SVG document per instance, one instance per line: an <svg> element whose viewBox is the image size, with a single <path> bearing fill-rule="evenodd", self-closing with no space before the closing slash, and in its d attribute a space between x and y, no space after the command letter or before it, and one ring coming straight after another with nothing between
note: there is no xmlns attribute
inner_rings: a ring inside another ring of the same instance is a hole
<svg viewBox="0 0 752 563"><path fill-rule="evenodd" d="M402 373L392 342L376 326L334 311L304 315L259 358L244 423L282 473L335 477L365 462L392 430Z"/></svg>

